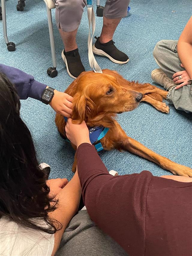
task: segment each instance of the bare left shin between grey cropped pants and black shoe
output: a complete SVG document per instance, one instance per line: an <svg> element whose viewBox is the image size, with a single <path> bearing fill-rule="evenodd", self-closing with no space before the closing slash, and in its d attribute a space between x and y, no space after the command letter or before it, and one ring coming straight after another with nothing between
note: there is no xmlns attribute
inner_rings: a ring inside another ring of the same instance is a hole
<svg viewBox="0 0 192 256"><path fill-rule="evenodd" d="M65 52L69 52L78 48L76 44L77 30L78 28L71 32L64 32L61 29L59 29L59 33L61 35L61 38L64 44Z"/></svg>

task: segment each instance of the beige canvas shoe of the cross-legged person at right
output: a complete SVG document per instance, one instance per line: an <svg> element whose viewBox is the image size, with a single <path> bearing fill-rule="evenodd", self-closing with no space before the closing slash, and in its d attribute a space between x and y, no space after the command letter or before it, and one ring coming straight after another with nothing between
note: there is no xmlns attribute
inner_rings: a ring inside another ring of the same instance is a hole
<svg viewBox="0 0 192 256"><path fill-rule="evenodd" d="M153 81L163 86L165 89L170 90L176 84L163 72L161 68L156 68L151 72Z"/></svg>

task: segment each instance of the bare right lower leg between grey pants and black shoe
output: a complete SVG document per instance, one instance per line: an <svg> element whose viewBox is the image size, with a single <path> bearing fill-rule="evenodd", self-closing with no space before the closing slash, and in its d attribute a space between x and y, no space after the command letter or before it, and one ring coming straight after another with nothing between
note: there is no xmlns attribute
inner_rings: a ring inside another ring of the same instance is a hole
<svg viewBox="0 0 192 256"><path fill-rule="evenodd" d="M101 36L99 38L101 44L105 44L113 39L113 35L120 20L121 18L108 19L106 17L103 17L103 28L101 31Z"/></svg>

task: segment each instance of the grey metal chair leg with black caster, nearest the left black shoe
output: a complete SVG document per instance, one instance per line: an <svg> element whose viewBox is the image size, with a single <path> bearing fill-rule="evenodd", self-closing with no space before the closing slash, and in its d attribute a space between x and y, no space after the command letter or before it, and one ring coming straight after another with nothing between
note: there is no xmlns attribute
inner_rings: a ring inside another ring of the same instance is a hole
<svg viewBox="0 0 192 256"><path fill-rule="evenodd" d="M46 6L47 8L47 18L48 18L48 26L49 26L49 38L50 38L50 45L51 45L51 56L52 56L52 63L53 68L47 69L47 74L50 77L56 77L58 72L56 70L57 62L56 62L56 56L55 56L55 43L54 43L54 37L53 37L53 24L52 24L52 15L51 10Z"/></svg>

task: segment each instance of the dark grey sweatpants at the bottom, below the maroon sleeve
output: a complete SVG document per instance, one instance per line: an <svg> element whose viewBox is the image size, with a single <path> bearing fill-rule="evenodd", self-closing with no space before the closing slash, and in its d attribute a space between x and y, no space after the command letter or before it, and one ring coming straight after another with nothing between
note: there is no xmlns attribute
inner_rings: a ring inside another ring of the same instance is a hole
<svg viewBox="0 0 192 256"><path fill-rule="evenodd" d="M128 256L128 254L95 226L87 210L82 210L72 218L65 229L55 256Z"/></svg>

